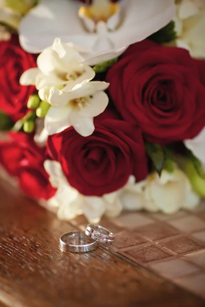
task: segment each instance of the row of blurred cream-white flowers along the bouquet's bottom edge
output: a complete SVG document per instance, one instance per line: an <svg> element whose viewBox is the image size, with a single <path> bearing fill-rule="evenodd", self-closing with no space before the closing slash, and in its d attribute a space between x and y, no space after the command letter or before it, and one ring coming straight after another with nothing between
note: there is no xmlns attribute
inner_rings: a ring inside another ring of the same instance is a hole
<svg viewBox="0 0 205 307"><path fill-rule="evenodd" d="M51 185L57 189L47 206L57 210L60 220L71 220L84 214L89 222L98 223L104 214L116 217L122 210L145 209L173 214L180 208L191 210L199 203L199 196L192 191L186 174L177 167L172 173L163 170L160 178L153 173L139 183L135 183L134 176L130 176L123 188L101 197L84 196L71 187L60 163L47 160L44 167Z"/></svg>

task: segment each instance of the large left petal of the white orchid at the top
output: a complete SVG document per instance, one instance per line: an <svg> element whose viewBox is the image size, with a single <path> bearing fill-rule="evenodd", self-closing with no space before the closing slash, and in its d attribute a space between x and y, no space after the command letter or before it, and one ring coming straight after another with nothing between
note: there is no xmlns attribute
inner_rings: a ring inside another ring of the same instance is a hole
<svg viewBox="0 0 205 307"><path fill-rule="evenodd" d="M69 35L84 34L85 30L77 18L79 7L80 2L77 1L41 0L20 23L20 44L27 52L39 53L52 46L56 37L70 42Z"/></svg>

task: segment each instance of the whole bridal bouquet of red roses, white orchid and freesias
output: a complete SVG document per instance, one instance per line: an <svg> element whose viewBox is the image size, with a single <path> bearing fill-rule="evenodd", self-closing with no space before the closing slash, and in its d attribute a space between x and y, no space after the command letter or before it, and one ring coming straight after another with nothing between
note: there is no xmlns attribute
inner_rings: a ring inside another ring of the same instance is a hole
<svg viewBox="0 0 205 307"><path fill-rule="evenodd" d="M205 196L204 0L1 0L0 163L60 219Z"/></svg>

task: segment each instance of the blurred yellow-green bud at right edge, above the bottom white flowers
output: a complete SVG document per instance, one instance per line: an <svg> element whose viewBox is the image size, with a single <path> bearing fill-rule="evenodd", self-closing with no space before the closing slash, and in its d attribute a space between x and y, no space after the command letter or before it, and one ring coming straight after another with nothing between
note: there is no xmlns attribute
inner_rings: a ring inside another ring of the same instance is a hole
<svg viewBox="0 0 205 307"><path fill-rule="evenodd" d="M186 161L186 173L194 191L205 197L205 179L200 177L191 160Z"/></svg>

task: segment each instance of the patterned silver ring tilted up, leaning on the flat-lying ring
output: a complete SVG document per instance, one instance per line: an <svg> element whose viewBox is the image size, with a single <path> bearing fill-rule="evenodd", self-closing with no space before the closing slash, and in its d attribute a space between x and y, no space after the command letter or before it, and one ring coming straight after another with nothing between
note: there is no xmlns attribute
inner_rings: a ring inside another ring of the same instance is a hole
<svg viewBox="0 0 205 307"><path fill-rule="evenodd" d="M95 224L88 224L86 234L97 242L105 245L112 245L115 238L111 231Z"/></svg>

